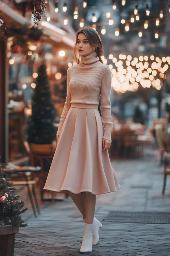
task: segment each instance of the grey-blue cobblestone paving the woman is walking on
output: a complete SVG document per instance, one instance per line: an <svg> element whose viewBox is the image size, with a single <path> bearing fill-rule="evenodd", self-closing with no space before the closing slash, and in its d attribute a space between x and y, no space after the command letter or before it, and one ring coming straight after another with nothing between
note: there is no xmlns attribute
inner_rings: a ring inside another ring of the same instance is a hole
<svg viewBox="0 0 170 256"><path fill-rule="evenodd" d="M100 240L84 255L170 256L170 224L104 222L109 211L170 212L170 177L162 195L163 167L156 152L139 159L112 160L121 188L115 193L96 196L95 217L102 223ZM25 188L24 188L25 189ZM70 197L55 203L40 203L35 218L27 190L18 190L29 210L22 215L28 227L19 228L15 256L68 256L79 253L84 222ZM23 193L25 191L25 193Z"/></svg>

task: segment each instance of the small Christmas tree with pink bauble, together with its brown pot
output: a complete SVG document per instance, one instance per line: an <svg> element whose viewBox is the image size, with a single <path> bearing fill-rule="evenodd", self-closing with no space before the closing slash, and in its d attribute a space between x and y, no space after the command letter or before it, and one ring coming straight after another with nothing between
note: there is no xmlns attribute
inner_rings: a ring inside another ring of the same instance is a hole
<svg viewBox="0 0 170 256"><path fill-rule="evenodd" d="M20 196L15 194L17 190L12 187L10 178L4 177L4 163L0 163L0 255L13 256L15 234L19 227L28 226L21 219L20 214L28 210L23 208L24 202L17 201Z"/></svg>

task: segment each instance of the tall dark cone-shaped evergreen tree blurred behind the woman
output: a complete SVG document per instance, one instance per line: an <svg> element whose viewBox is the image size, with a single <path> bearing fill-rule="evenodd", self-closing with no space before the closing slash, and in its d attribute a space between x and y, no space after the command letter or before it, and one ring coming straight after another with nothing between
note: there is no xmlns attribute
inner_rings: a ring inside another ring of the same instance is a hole
<svg viewBox="0 0 170 256"><path fill-rule="evenodd" d="M56 139L54 120L56 109L51 99L50 85L46 73L46 65L38 68L36 87L32 95L32 115L26 126L28 143L51 144Z"/></svg>

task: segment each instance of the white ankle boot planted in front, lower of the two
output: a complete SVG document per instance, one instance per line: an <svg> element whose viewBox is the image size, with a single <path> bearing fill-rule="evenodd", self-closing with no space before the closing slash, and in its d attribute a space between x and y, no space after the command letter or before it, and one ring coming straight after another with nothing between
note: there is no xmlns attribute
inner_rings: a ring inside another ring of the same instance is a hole
<svg viewBox="0 0 170 256"><path fill-rule="evenodd" d="M84 223L84 234L80 253L92 252L92 227L93 223Z"/></svg>

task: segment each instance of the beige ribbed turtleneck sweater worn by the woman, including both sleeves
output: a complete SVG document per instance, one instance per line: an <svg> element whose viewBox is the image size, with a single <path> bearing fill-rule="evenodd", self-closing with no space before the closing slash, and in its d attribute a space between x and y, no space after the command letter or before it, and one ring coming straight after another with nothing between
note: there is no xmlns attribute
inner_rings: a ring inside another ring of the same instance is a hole
<svg viewBox="0 0 170 256"><path fill-rule="evenodd" d="M111 81L112 74L108 65L100 62L96 53L81 56L81 62L67 69L67 97L63 113L60 118L57 134L60 134L71 103L85 103L99 105L101 97L102 124L104 126L103 138L111 139Z"/></svg>

